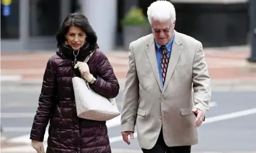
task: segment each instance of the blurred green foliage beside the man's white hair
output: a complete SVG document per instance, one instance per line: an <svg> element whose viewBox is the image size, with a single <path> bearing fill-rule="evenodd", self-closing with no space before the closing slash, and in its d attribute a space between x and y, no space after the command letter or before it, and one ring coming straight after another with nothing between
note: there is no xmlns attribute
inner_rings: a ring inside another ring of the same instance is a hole
<svg viewBox="0 0 256 153"><path fill-rule="evenodd" d="M124 26L148 26L148 18L143 13L143 10L137 7L132 7L122 19L121 24Z"/></svg>

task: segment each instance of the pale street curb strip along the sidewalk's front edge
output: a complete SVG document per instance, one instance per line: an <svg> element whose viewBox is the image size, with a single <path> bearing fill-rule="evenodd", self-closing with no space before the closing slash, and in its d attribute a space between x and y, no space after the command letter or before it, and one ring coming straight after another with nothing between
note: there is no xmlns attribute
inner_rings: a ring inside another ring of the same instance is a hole
<svg viewBox="0 0 256 153"><path fill-rule="evenodd" d="M120 90L124 88L124 79L119 79ZM41 86L42 80L2 80L2 86ZM255 80L211 80L213 90L253 90L256 91Z"/></svg>

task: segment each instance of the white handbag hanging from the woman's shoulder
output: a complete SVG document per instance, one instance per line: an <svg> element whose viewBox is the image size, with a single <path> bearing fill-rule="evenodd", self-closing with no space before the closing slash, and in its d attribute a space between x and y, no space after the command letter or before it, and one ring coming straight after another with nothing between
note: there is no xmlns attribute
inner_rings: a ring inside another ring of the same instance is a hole
<svg viewBox="0 0 256 153"><path fill-rule="evenodd" d="M85 59L88 62L92 52ZM108 121L120 115L115 98L105 98L97 94L85 79L72 77L73 90L75 93L75 104L79 118L94 121Z"/></svg>

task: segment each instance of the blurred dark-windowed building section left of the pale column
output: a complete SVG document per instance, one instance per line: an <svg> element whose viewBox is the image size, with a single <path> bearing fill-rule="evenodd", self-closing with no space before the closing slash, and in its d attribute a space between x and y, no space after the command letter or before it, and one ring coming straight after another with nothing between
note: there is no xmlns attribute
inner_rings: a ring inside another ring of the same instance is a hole
<svg viewBox="0 0 256 153"><path fill-rule="evenodd" d="M55 34L62 20L74 10L75 2L12 0L10 15L4 16L1 12L1 51L38 51L56 48Z"/></svg>

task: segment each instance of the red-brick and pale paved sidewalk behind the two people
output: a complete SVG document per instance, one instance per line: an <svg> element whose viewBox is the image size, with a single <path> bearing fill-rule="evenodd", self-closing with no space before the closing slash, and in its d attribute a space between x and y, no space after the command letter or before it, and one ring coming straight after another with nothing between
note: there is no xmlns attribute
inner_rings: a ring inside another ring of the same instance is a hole
<svg viewBox="0 0 256 153"><path fill-rule="evenodd" d="M246 58L250 51L248 46L231 48L204 49L209 74L213 87L256 87L256 65L249 64ZM1 55L2 84L42 84L47 60L53 51L28 52ZM123 84L127 73L127 51L108 52L107 57L116 76Z"/></svg>

